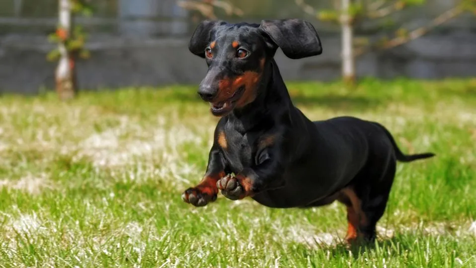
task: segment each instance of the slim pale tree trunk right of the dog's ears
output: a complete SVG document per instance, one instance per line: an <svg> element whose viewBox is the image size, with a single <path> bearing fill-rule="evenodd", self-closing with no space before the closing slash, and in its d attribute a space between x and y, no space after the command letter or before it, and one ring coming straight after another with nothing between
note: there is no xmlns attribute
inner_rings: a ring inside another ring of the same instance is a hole
<svg viewBox="0 0 476 268"><path fill-rule="evenodd" d="M350 1L341 0L340 25L342 27L342 79L355 83L355 63L353 53L353 29L350 17Z"/></svg>

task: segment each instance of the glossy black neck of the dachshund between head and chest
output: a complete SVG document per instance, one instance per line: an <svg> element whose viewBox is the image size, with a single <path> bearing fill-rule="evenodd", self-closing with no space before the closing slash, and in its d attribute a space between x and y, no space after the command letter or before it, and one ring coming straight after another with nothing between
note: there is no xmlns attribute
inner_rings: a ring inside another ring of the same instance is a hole
<svg viewBox="0 0 476 268"><path fill-rule="evenodd" d="M289 113L292 106L278 65L271 59L265 65L255 100L240 109L233 110L227 115L227 119L241 121L242 131L245 132L257 125L275 121L280 115Z"/></svg>

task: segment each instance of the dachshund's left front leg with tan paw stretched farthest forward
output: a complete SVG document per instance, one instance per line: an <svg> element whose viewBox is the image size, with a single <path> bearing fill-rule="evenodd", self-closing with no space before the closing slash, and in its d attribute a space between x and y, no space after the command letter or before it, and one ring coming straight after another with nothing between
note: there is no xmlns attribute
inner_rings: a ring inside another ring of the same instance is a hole
<svg viewBox="0 0 476 268"><path fill-rule="evenodd" d="M208 157L207 171L203 179L195 187L182 193L182 200L194 206L205 206L217 199L217 181L226 176L225 160L220 150L214 145Z"/></svg>

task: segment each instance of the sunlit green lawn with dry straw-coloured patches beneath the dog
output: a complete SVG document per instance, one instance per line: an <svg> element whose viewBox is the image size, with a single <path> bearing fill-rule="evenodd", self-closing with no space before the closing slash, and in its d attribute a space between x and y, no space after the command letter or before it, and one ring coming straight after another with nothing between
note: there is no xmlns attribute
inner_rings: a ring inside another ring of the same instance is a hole
<svg viewBox="0 0 476 268"><path fill-rule="evenodd" d="M436 153L398 164L376 245L344 247L338 203L184 203L217 122L194 87L4 95L0 267L476 267L476 80L288 88L313 120L376 120Z"/></svg>

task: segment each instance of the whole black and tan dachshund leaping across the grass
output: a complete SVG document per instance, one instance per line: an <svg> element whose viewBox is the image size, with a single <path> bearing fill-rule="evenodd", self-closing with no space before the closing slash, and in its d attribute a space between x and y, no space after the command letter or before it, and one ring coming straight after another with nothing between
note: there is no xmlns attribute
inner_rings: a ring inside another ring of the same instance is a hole
<svg viewBox="0 0 476 268"><path fill-rule="evenodd" d="M260 24L203 21L189 49L205 58L200 97L220 116L202 181L182 199L205 206L219 190L229 199L251 197L274 208L347 206L347 241L373 241L397 160L404 155L380 124L354 117L309 120L296 108L273 57L322 53L316 29L300 19Z"/></svg>

